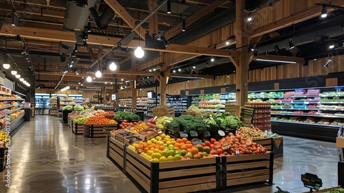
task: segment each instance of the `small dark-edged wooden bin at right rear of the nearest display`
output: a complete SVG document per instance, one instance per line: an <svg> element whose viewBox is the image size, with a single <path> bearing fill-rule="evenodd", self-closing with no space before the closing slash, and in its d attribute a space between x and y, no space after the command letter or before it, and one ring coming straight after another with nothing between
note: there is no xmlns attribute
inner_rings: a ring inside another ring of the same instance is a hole
<svg viewBox="0 0 344 193"><path fill-rule="evenodd" d="M255 140L255 143L262 145L266 150L274 152L274 158L283 156L283 136L277 136L267 139Z"/></svg>

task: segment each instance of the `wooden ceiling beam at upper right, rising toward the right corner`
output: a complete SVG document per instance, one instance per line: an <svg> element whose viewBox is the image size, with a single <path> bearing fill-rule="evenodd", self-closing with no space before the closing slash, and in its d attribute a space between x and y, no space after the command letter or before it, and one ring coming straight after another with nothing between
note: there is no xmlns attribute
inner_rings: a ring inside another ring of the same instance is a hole
<svg viewBox="0 0 344 193"><path fill-rule="evenodd" d="M344 6L343 0L332 0L332 1L326 1L327 4L331 4L332 6ZM334 9L327 8L327 12L331 12ZM257 14L263 14L262 12L257 12ZM273 32L276 30L279 30L281 28L285 28L287 26L291 26L295 23L300 23L302 21L306 21L308 19L311 19L313 17L320 17L321 15L321 6L312 6L308 9L302 10L300 12L296 12L294 14L291 14L288 17L284 17L282 19L279 19L277 21L273 21L271 23L268 23L265 26L261 26L259 28L256 28L252 30L250 33L250 37L258 37L261 35L264 35L269 32ZM266 17L268 15L266 14Z"/></svg>

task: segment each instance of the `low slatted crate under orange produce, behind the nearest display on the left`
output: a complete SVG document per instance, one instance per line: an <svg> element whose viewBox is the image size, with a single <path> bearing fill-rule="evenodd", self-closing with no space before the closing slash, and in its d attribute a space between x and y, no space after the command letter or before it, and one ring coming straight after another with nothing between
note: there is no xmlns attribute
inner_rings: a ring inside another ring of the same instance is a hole
<svg viewBox="0 0 344 193"><path fill-rule="evenodd" d="M117 130L118 125L86 125L84 124L83 134L89 138L105 137L111 130Z"/></svg>

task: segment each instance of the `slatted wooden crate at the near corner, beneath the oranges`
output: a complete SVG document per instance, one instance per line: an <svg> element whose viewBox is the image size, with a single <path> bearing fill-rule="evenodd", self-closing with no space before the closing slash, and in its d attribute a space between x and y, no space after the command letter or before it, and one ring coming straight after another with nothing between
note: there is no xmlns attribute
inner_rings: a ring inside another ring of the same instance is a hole
<svg viewBox="0 0 344 193"><path fill-rule="evenodd" d="M147 192L219 190L220 157L151 163L125 148L125 171Z"/></svg>

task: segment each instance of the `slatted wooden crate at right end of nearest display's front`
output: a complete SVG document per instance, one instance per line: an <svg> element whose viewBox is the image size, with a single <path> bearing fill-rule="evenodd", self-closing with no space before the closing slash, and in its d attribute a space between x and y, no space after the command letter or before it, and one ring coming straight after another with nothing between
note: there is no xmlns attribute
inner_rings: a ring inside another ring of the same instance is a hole
<svg viewBox="0 0 344 193"><path fill-rule="evenodd" d="M272 184L273 152L222 157L222 189L233 185L267 182Z"/></svg>

